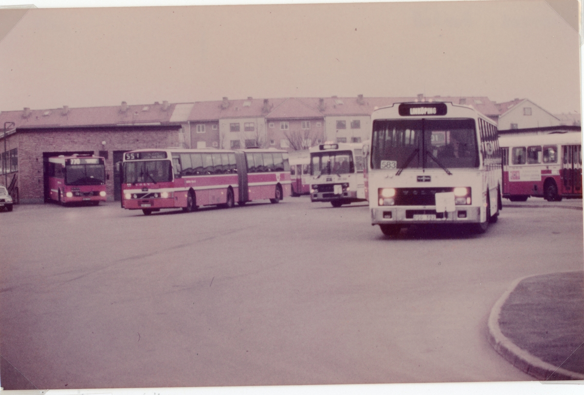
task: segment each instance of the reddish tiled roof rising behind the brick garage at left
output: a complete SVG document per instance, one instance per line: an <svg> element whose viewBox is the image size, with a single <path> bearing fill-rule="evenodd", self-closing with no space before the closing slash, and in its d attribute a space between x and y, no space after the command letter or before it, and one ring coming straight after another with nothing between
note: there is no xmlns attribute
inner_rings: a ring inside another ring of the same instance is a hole
<svg viewBox="0 0 584 395"><path fill-rule="evenodd" d="M13 122L18 128L169 123L175 104L82 107L50 110L2 111L0 125Z"/></svg>

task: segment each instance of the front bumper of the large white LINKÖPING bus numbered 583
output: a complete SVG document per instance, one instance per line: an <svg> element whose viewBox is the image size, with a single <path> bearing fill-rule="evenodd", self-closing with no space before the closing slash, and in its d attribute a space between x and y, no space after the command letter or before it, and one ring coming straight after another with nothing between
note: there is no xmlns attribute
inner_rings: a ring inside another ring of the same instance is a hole
<svg viewBox="0 0 584 395"><path fill-rule="evenodd" d="M416 223L480 223L480 207L456 207L453 212L436 212L435 207L373 207L371 225L380 223L413 225Z"/></svg>

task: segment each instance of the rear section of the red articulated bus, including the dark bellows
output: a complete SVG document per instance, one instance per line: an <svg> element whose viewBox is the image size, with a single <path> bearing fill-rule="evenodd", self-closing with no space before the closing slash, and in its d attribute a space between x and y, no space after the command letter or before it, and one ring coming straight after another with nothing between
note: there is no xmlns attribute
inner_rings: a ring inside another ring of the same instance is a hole
<svg viewBox="0 0 584 395"><path fill-rule="evenodd" d="M238 160L238 204L269 199L272 203L291 195L288 153L276 149L248 148L235 151Z"/></svg>

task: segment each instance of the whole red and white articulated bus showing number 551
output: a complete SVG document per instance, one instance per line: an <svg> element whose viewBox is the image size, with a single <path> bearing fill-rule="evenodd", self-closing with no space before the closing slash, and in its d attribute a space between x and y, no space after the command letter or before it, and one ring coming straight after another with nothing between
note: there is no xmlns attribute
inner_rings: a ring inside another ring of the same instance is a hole
<svg viewBox="0 0 584 395"><path fill-rule="evenodd" d="M275 149L140 149L124 153L121 207L145 215L290 195L288 153Z"/></svg>

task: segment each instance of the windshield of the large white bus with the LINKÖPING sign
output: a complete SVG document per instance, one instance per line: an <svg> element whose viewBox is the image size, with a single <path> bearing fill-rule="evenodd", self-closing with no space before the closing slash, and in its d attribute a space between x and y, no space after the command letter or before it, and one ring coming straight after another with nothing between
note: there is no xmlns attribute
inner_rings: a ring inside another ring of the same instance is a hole
<svg viewBox="0 0 584 395"><path fill-rule="evenodd" d="M472 118L376 120L373 123L373 169L478 166L477 136Z"/></svg>

